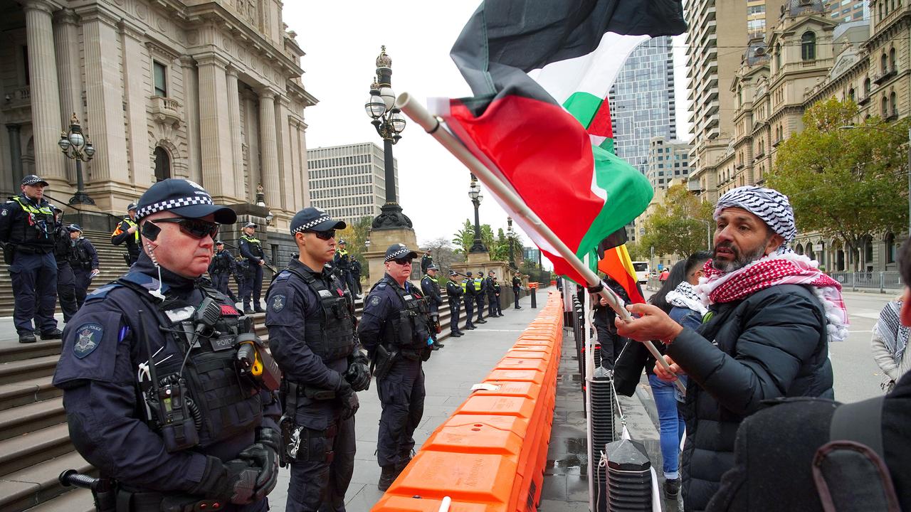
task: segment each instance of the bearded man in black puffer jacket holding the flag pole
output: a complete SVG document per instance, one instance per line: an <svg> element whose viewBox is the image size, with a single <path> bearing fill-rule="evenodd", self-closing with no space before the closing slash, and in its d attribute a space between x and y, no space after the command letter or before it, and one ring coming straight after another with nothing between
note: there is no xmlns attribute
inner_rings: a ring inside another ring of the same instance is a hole
<svg viewBox="0 0 911 512"><path fill-rule="evenodd" d="M833 396L828 342L847 335L841 285L788 248L796 228L787 197L741 187L715 207L712 261L698 292L711 304L698 330L651 304L617 322L618 333L667 344L670 372L688 375L682 491L686 510L703 510L732 466L734 435L763 400ZM826 320L828 319L828 322Z"/></svg>

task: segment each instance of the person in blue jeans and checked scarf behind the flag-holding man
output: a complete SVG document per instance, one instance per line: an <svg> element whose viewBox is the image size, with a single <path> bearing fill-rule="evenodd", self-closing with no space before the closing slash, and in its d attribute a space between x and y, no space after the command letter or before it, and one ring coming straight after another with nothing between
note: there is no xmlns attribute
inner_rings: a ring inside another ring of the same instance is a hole
<svg viewBox="0 0 911 512"><path fill-rule="evenodd" d="M671 320L684 327L699 327L706 307L692 287L699 284L702 266L710 259L711 253L702 251L678 261L670 269L668 279L661 283L660 290L650 297L649 303L658 306L661 311L668 313ZM660 344L658 348L663 353L664 345ZM677 404L682 396L672 382L662 381L655 375L654 365L655 360L649 355L645 370L649 374L651 394L655 398L655 408L658 409L664 497L677 499L681 486L679 452L684 430L683 417L678 414ZM681 376L681 379L686 377Z"/></svg>

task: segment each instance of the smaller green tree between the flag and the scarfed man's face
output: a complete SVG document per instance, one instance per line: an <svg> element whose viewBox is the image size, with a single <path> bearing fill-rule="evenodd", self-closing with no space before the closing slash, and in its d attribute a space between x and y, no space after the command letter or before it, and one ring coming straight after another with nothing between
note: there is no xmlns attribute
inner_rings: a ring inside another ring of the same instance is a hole
<svg viewBox="0 0 911 512"><path fill-rule="evenodd" d="M648 259L650 248L656 254L677 254L686 257L696 251L705 251L711 232L711 204L699 200L685 185L668 189L664 201L645 221L645 236L636 244L637 257Z"/></svg>

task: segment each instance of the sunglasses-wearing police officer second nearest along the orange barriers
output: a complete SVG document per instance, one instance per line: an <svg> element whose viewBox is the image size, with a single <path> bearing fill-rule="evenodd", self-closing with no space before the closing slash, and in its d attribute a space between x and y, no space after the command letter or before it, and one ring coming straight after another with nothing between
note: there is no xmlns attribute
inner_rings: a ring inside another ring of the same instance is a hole
<svg viewBox="0 0 911 512"><path fill-rule="evenodd" d="M316 208L298 211L291 233L297 259L266 292L271 353L284 374L285 445L293 445L289 512L343 511L354 469L357 391L370 366L354 332L354 302L328 270L335 230L345 223Z"/></svg>

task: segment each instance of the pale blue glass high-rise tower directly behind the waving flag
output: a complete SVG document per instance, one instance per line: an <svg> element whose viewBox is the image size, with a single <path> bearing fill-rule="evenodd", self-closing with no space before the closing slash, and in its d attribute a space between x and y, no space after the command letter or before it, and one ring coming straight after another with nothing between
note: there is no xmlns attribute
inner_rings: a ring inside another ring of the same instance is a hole
<svg viewBox="0 0 911 512"><path fill-rule="evenodd" d="M670 37L649 39L632 51L609 101L617 156L645 174L651 138L677 138Z"/></svg>

